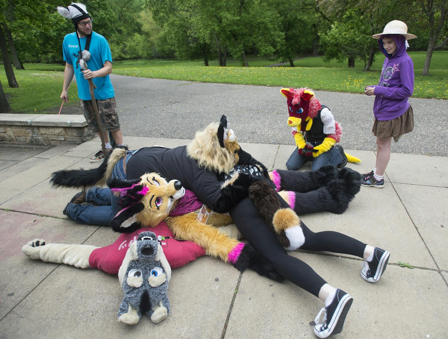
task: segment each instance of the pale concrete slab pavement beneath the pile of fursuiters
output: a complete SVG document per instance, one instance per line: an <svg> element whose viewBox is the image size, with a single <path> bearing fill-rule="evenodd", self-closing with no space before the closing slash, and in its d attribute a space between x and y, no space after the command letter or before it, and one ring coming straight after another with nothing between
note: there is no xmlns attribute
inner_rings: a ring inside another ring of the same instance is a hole
<svg viewBox="0 0 448 339"><path fill-rule="evenodd" d="M130 149L174 147L189 140L125 137ZM241 144L268 168L284 169L294 146ZM76 190L50 187L59 169L92 168L98 139L73 146L0 148L0 338L314 338L310 322L322 302L295 285L253 271L240 274L209 257L175 269L171 313L159 324L143 317L117 322L122 290L116 276L26 258L33 238L107 246L117 233L79 225L62 214ZM373 151L347 150L374 167ZM412 165L412 166L411 166ZM362 187L342 215L302 220L315 232L335 230L392 254L377 284L361 279L362 260L331 253L292 252L353 298L344 331L335 338L447 338L448 158L392 153L382 190ZM307 168L308 169L308 168ZM408 262L414 269L398 266Z"/></svg>

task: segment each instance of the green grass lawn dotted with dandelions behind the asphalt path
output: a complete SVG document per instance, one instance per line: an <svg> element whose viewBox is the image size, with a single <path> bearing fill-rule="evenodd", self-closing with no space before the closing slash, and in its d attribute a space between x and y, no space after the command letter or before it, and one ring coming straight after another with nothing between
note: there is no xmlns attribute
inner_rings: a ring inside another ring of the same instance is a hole
<svg viewBox="0 0 448 339"><path fill-rule="evenodd" d="M426 52L409 52L414 60L415 85L413 97L448 99L448 51L437 51L431 59L430 76L422 76ZM306 57L294 62L296 67L263 67L275 64L261 57L249 57L250 67L241 67L239 60L228 59L227 67L218 67L217 60L211 60L209 67L202 60L127 60L116 61L113 73L126 76L141 76L158 79L198 81L211 83L262 85L273 87L310 87L315 90L363 93L366 85L375 85L383 64L382 54L376 56L372 71L364 72L364 64L356 62L355 68L348 68L347 61L322 57ZM25 70L14 70L17 89L8 87L3 68L0 81L8 96L14 113L57 114L60 108L60 91L64 66L60 64L25 64ZM59 72L54 72L59 71ZM65 109L78 106L76 83L69 89L70 102ZM64 112L64 109L63 109ZM62 112L62 113L63 113Z"/></svg>

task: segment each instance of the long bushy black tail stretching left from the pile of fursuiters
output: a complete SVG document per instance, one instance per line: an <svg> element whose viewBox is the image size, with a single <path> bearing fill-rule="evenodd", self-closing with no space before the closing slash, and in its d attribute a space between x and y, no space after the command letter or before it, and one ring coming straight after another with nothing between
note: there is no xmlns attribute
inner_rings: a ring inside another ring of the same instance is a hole
<svg viewBox="0 0 448 339"><path fill-rule="evenodd" d="M62 169L52 173L50 183L53 187L86 187L95 186L108 167L107 158L98 168L93 169Z"/></svg>

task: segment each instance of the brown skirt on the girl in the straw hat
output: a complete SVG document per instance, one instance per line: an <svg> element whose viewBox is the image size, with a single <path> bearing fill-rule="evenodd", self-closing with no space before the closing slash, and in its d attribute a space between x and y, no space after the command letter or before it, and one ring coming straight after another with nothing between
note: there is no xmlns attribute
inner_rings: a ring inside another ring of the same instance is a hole
<svg viewBox="0 0 448 339"><path fill-rule="evenodd" d="M399 137L414 129L414 113L409 105L408 110L398 118L392 120L377 120L373 122L372 132L374 136L382 139L393 137L398 141Z"/></svg>

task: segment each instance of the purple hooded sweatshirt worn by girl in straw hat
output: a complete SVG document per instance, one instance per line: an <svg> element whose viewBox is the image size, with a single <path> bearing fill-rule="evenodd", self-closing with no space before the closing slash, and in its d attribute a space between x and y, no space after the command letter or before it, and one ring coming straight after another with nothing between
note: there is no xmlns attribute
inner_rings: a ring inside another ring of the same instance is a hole
<svg viewBox="0 0 448 339"><path fill-rule="evenodd" d="M393 56L383 47L385 37L392 38L396 43L396 53ZM378 44L386 59L379 77L379 84L370 86L375 87L373 113L377 120L392 120L409 108L408 98L414 91L414 63L406 53L403 35L382 35L378 39Z"/></svg>

